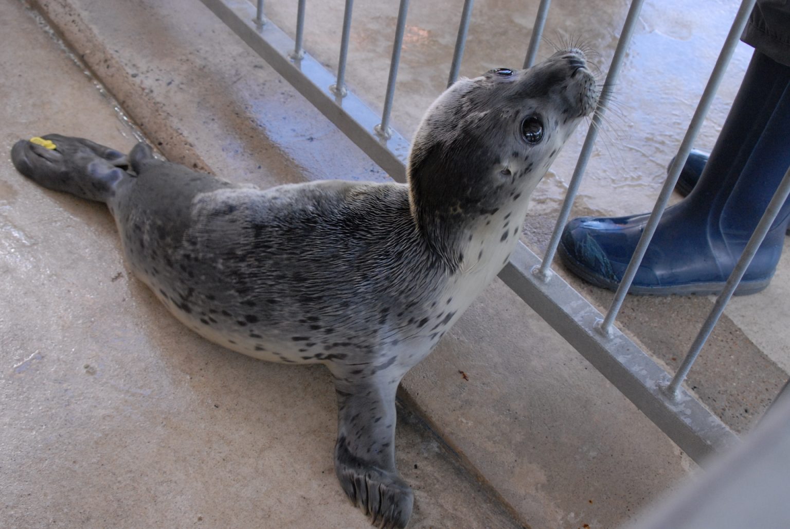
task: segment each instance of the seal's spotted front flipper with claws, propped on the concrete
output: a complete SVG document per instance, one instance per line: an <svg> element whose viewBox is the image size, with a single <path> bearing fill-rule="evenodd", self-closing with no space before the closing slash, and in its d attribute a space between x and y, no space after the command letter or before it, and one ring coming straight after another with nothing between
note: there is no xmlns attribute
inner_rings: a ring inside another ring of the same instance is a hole
<svg viewBox="0 0 790 529"><path fill-rule="evenodd" d="M395 470L398 380L335 382L335 473L351 501L376 527L406 527L414 504L412 489Z"/></svg>

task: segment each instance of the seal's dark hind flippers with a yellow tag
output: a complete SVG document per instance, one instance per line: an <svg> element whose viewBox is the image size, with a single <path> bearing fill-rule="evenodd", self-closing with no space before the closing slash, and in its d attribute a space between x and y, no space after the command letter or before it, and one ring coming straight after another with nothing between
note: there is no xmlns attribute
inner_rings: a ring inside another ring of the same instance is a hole
<svg viewBox="0 0 790 529"><path fill-rule="evenodd" d="M110 147L60 134L33 140L14 144L11 161L17 171L47 189L107 202L115 186L130 177L126 155Z"/></svg>

